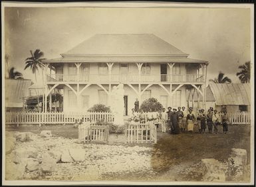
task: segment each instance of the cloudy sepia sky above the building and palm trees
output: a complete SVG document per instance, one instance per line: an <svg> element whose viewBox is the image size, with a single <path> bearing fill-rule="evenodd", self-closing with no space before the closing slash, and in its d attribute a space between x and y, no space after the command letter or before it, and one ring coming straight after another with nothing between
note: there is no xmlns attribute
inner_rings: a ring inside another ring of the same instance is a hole
<svg viewBox="0 0 256 187"><path fill-rule="evenodd" d="M9 67L35 82L24 70L30 50L59 58L94 34L152 33L189 58L207 60L207 80L221 71L239 83L238 66L251 60L250 23L245 8L5 7L5 54Z"/></svg>

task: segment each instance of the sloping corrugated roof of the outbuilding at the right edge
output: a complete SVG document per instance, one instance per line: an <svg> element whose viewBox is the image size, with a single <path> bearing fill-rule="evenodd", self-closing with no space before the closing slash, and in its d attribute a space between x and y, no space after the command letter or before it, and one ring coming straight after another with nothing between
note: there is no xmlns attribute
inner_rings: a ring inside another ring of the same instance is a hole
<svg viewBox="0 0 256 187"><path fill-rule="evenodd" d="M209 84L216 105L250 105L249 84Z"/></svg>

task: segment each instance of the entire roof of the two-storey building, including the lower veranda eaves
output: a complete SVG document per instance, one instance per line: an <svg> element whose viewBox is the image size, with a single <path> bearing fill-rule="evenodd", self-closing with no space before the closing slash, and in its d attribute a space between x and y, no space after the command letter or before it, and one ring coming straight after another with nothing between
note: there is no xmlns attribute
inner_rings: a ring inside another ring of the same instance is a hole
<svg viewBox="0 0 256 187"><path fill-rule="evenodd" d="M188 55L154 34L95 34L61 54L61 58L43 62L207 63Z"/></svg>

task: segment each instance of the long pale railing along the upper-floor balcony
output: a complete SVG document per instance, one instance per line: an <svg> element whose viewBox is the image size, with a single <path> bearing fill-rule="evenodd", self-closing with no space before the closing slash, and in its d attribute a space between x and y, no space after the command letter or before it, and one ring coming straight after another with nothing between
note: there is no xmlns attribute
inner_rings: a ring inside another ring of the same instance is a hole
<svg viewBox="0 0 256 187"><path fill-rule="evenodd" d="M204 82L203 75L197 74L154 74L154 75L141 75L138 74L112 74L99 75L99 74L52 74L47 75L47 82L96 82L96 83L136 83L136 82Z"/></svg>

